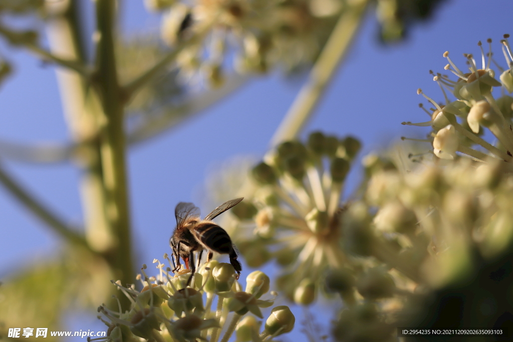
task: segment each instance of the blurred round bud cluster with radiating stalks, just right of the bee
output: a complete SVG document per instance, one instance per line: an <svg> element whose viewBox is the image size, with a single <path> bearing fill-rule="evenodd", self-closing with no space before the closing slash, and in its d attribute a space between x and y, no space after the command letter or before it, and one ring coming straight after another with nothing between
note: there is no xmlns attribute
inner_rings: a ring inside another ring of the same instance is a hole
<svg viewBox="0 0 513 342"><path fill-rule="evenodd" d="M287 267L278 285L299 304L312 303L324 271L345 262L341 194L359 150L352 137L321 132L310 134L305 144L282 143L253 168L258 183L253 198L232 210L256 224L251 236L235 236L249 266L275 258Z"/></svg>

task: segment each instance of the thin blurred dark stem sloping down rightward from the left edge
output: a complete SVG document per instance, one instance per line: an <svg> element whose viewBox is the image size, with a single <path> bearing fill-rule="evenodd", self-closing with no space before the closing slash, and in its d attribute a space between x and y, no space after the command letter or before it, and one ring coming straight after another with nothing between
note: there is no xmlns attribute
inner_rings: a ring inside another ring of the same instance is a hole
<svg viewBox="0 0 513 342"><path fill-rule="evenodd" d="M24 189L23 186L7 173L2 166L0 166L0 183L13 195L21 204L30 210L37 218L42 220L48 227L50 227L58 235L61 235L71 243L75 243L86 247L90 250L84 237L73 231L71 227L66 225L64 221L56 214L52 213L50 209L45 207L35 197Z"/></svg>

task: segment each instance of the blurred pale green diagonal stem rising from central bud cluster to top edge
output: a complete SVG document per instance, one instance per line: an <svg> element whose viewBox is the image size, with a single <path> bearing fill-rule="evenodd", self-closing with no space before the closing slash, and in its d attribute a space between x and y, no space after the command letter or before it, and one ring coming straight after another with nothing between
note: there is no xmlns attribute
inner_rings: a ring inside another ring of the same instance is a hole
<svg viewBox="0 0 513 342"><path fill-rule="evenodd" d="M333 28L307 83L295 97L292 106L271 139L271 146L293 139L306 124L319 102L337 66L362 22L367 1L344 10Z"/></svg>

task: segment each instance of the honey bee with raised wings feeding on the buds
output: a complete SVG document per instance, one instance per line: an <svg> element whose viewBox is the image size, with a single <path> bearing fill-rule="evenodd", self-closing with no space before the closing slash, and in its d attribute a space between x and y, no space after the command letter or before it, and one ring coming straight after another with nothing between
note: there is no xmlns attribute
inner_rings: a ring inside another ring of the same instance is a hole
<svg viewBox="0 0 513 342"><path fill-rule="evenodd" d="M228 254L230 257L230 264L239 275L242 271L242 266L238 257L238 250L232 244L228 233L214 222L216 216L224 213L231 207L237 205L244 197L231 199L215 208L210 214L205 216L204 219L200 218L200 209L195 207L192 203L180 202L174 209L176 217L176 228L173 235L169 239L169 245L173 251L173 267L174 273L180 271L182 265L180 258L184 260L185 268L191 270L191 274L196 271L194 263L194 252L198 252L198 267L200 265L203 250L208 251L207 262L212 259L213 252L220 254ZM176 260L176 264L175 261ZM187 281L189 285L192 276Z"/></svg>

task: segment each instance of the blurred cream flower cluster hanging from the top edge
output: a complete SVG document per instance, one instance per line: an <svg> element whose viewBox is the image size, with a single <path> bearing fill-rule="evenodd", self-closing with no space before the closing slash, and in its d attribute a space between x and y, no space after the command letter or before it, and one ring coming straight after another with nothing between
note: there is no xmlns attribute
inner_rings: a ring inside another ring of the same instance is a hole
<svg viewBox="0 0 513 342"><path fill-rule="evenodd" d="M230 43L236 45L239 72L312 63L342 9L336 0L147 0L146 5L163 12L161 36L167 45L189 43L177 58L183 70L202 71L214 86L223 82Z"/></svg>

